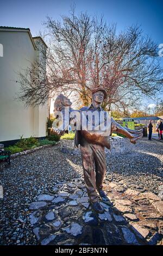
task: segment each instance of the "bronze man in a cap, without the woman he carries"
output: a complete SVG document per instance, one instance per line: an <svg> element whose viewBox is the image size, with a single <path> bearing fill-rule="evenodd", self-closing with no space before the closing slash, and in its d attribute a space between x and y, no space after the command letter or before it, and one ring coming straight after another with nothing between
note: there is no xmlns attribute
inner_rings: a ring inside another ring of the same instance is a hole
<svg viewBox="0 0 163 256"><path fill-rule="evenodd" d="M102 87L93 89L91 105L81 108L80 111L103 111L101 105L106 95L106 91ZM106 194L103 191L103 180L106 172L105 147L104 145L87 142L87 140L78 133L81 133L81 131L76 132L75 142L77 146L80 144L87 194L90 198L92 208L98 213L102 213L104 209L99 203L97 191L99 196L106 198Z"/></svg>

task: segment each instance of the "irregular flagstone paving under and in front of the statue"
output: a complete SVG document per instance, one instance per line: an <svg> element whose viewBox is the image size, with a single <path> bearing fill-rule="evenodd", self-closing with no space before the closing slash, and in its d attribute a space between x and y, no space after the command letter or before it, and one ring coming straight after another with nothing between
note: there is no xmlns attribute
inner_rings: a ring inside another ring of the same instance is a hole
<svg viewBox="0 0 163 256"><path fill-rule="evenodd" d="M117 192L115 187L118 185L105 181L108 200L99 199L104 214L91 209L87 193L82 192L85 191L83 179L56 184L54 194L40 194L37 199L44 200L29 205L30 222L37 241L41 245L160 243L163 233L160 198L129 188L126 188L127 193ZM54 199L50 200L52 197Z"/></svg>

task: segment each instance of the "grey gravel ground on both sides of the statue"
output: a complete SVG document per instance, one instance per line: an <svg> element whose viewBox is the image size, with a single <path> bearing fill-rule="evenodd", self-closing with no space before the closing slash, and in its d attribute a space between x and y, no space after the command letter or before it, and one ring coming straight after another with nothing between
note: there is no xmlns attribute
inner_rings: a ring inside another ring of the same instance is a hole
<svg viewBox="0 0 163 256"><path fill-rule="evenodd" d="M162 184L163 144L142 139L136 145L126 141L128 152L106 155L108 179L131 188L159 193ZM39 194L51 193L54 184L83 175L80 156L60 153L57 147L41 149L11 159L11 166L0 164L0 245L34 245L33 225L29 222L29 204Z"/></svg>

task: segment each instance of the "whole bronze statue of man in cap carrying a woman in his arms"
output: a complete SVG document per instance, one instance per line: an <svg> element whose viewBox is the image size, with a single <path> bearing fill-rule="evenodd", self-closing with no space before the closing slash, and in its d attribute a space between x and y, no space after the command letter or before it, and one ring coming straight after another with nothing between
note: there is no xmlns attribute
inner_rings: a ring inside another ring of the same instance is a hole
<svg viewBox="0 0 163 256"><path fill-rule="evenodd" d="M143 136L142 130L124 128L116 123L108 112L104 111L101 105L106 96L106 90L103 87L97 87L92 90L91 105L75 110L71 108L72 102L60 94L54 102L54 115L61 113L62 121L57 126L58 121L55 120L51 130L51 133L62 135L69 124L76 125L74 145L78 147L80 144L87 194L92 209L98 213L104 212L99 203L98 194L102 198L107 198L103 191L103 180L106 172L104 148L110 149L109 136L112 132L118 132L129 138L130 142L134 144L137 139Z"/></svg>

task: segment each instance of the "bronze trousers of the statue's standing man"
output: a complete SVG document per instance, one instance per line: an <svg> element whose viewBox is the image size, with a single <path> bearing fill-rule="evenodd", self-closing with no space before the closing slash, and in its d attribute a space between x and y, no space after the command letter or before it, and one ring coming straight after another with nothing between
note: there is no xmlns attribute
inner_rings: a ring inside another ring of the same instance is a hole
<svg viewBox="0 0 163 256"><path fill-rule="evenodd" d="M85 140L81 144L80 150L86 190L91 202L94 203L98 201L96 190L102 190L103 188L103 180L106 172L105 150L103 146L91 144Z"/></svg>

